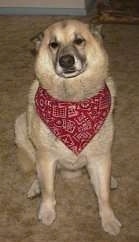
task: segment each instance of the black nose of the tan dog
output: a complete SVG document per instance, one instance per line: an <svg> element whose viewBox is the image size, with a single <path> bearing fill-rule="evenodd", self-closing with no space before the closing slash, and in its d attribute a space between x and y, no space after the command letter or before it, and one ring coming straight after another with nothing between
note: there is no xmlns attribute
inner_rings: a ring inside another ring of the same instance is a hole
<svg viewBox="0 0 139 242"><path fill-rule="evenodd" d="M71 68L75 64L74 56L63 55L59 59L59 64L63 68Z"/></svg>

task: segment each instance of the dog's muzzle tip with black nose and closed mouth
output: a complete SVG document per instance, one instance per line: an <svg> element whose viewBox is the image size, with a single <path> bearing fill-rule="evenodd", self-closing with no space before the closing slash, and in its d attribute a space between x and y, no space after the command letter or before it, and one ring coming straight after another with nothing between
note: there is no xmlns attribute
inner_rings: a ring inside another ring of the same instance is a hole
<svg viewBox="0 0 139 242"><path fill-rule="evenodd" d="M74 55L61 56L56 63L56 73L60 77L72 78L80 75L86 69L85 60L80 60Z"/></svg>

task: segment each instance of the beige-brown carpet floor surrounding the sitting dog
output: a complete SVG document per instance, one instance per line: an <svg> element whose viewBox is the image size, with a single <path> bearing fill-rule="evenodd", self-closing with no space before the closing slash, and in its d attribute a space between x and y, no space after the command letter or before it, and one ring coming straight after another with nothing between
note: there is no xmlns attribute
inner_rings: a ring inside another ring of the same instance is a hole
<svg viewBox="0 0 139 242"><path fill-rule="evenodd" d="M86 174L72 184L57 175L57 219L50 227L37 221L40 198L26 198L32 177L18 167L14 120L34 78L29 39L55 19L0 17L0 242L139 242L139 26L104 26L117 86L113 174L119 187L111 200L121 233L102 231Z"/></svg>

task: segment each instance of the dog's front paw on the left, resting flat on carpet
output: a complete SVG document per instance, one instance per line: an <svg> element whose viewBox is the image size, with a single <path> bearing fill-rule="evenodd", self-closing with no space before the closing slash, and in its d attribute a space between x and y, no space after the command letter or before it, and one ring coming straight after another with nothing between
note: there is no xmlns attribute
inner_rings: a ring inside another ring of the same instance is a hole
<svg viewBox="0 0 139 242"><path fill-rule="evenodd" d="M51 225L56 218L54 206L42 203L38 215L39 220L45 225Z"/></svg>

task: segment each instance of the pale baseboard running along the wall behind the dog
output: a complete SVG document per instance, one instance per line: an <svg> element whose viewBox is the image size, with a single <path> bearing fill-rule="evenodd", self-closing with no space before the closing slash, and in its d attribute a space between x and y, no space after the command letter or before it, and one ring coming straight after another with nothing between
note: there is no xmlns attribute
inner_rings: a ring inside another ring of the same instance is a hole
<svg viewBox="0 0 139 242"><path fill-rule="evenodd" d="M85 8L0 7L0 15L87 15Z"/></svg>

